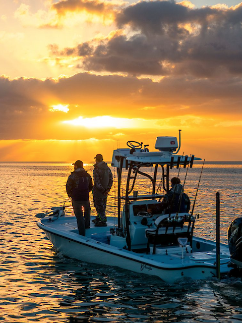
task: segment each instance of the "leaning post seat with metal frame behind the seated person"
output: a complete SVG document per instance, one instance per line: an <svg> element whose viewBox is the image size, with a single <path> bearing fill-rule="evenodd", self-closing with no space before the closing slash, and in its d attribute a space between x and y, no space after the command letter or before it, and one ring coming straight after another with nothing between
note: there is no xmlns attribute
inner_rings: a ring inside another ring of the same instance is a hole
<svg viewBox="0 0 242 323"><path fill-rule="evenodd" d="M145 235L148 239L147 254L150 244L153 244L153 254L156 245L171 246L178 245L177 238L188 238L192 247L192 238L195 219L189 213L164 214L155 220L156 229L146 229Z"/></svg>

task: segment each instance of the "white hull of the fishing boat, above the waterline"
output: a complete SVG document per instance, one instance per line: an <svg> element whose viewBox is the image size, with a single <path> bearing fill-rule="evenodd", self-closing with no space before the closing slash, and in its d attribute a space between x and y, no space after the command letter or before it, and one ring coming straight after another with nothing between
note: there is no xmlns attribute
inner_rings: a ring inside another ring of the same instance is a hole
<svg viewBox="0 0 242 323"><path fill-rule="evenodd" d="M74 219L73 219L74 218ZM75 223L75 217L66 217L53 223L47 220L38 221L38 226L45 232L53 246L64 255L79 259L85 262L111 265L130 270L132 272L157 276L166 283L174 283L183 277L193 280L216 277L216 255L214 252L185 253L182 259L181 253L146 255L118 248L100 241L95 241L90 237L83 237L75 233L75 230L61 230L61 227L70 226L70 222ZM59 224L57 224L57 222ZM73 229L73 228L72 228ZM91 228L104 232L109 228ZM204 244L206 240L194 238L194 244ZM213 242L207 242L209 249L216 248ZM222 255L220 266L221 273L227 273L229 268L228 250L222 246L225 252Z"/></svg>

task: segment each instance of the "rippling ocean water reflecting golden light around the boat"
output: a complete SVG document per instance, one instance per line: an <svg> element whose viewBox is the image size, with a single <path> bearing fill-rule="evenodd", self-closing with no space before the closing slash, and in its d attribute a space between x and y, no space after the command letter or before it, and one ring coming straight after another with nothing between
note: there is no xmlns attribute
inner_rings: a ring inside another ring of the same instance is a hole
<svg viewBox="0 0 242 323"><path fill-rule="evenodd" d="M189 169L185 191L193 205L201 163ZM92 175L92 165L85 168ZM241 322L242 279L160 279L58 254L37 228L35 214L66 204L69 164L0 163L0 321L3 322ZM114 171L113 171L114 174ZM179 177L184 184L186 170ZM173 169L171 176L177 176ZM116 175L114 176L116 182ZM215 240L216 192L220 193L221 241L242 216L242 163L207 162L195 205L195 233ZM150 184L140 179L142 193ZM107 215L115 212L114 183ZM125 189L125 186L123 190ZM162 193L162 191L161 191ZM92 196L90 196L92 204ZM95 210L92 205L92 214Z"/></svg>

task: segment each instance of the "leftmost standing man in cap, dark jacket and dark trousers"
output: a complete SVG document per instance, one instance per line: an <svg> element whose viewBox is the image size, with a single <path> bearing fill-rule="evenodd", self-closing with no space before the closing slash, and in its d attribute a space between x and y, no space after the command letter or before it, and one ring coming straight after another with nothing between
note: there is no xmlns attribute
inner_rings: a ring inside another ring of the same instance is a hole
<svg viewBox="0 0 242 323"><path fill-rule="evenodd" d="M72 206L77 218L79 234L85 236L85 229L90 228L91 208L89 202L89 192L93 187L92 178L84 170L81 160L77 160L76 163L72 165L74 165L74 172L72 172L72 174L68 177L66 189L68 196L72 198Z"/></svg>

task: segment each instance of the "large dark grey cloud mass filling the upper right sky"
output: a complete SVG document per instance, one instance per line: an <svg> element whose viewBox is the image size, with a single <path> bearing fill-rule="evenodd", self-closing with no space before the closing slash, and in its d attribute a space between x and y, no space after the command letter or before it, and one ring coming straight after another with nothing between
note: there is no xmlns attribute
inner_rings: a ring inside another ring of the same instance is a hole
<svg viewBox="0 0 242 323"><path fill-rule="evenodd" d="M242 74L242 4L196 9L188 2L142 1L120 9L115 22L119 29L108 36L50 50L51 56L75 57L75 68L99 73Z"/></svg>

